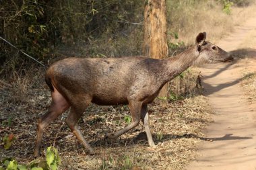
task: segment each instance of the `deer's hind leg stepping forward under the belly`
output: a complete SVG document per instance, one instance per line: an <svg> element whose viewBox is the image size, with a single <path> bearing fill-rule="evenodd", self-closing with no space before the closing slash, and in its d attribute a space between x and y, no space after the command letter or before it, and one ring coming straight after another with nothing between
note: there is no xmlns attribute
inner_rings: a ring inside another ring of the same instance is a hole
<svg viewBox="0 0 256 170"><path fill-rule="evenodd" d="M89 103L88 103L89 104ZM87 105L88 105L87 104ZM86 106L87 106L86 105ZM84 107L83 107L84 108ZM84 108L85 110L85 108ZM71 131L73 132L73 134L77 137L77 139L82 142L82 144L84 145L84 147L86 149L88 149L90 154L93 154L94 151L92 149L92 147L90 146L90 144L84 139L83 134L80 132L80 130L77 127L77 122L79 120L79 118L82 117L82 114L84 112L84 110L81 109L76 109L76 108L72 108L69 112L69 115L67 116L66 119L66 123L69 126L69 128L71 129Z"/></svg>

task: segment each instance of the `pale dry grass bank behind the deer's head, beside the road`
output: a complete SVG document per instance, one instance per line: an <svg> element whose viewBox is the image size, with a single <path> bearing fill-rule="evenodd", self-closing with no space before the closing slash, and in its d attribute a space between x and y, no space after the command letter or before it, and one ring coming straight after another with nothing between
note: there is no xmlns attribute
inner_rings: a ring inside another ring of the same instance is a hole
<svg viewBox="0 0 256 170"><path fill-rule="evenodd" d="M179 40L185 44L194 44L199 32L207 32L207 39L216 42L231 34L234 26L243 25L247 17L253 17L255 2L248 7L231 7L231 15L222 11L222 5L216 1L199 1L195 5L181 1L181 9L169 9L170 29L178 32ZM171 7L171 5L169 5ZM174 12L172 12L174 11Z"/></svg>

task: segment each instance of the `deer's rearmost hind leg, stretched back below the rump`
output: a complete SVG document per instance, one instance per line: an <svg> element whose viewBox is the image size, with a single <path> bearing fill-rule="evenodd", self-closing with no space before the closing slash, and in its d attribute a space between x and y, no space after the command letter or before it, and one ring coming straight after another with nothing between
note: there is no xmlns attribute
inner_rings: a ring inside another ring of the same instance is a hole
<svg viewBox="0 0 256 170"><path fill-rule="evenodd" d="M37 138L36 138L36 146L34 150L34 157L40 156L40 145L42 141L42 133L44 128L49 126L53 120L58 118L63 112L65 112L69 108L69 103L67 103L67 100L57 91L57 89L54 89L51 93L52 95L52 103L47 110L47 112L42 115L38 119L38 130L37 130Z"/></svg>

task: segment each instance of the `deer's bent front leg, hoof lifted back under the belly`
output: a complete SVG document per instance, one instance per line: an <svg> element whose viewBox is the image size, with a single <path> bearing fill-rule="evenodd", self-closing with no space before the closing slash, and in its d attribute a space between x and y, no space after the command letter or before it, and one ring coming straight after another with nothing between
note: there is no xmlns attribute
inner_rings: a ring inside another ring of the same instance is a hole
<svg viewBox="0 0 256 170"><path fill-rule="evenodd" d="M125 132L128 132L132 128L135 128L139 124L140 120L140 113L141 113L141 102L138 101L129 101L129 108L131 111L131 117L133 118L131 124L123 128L122 130L119 130L118 132L113 132L110 134L106 134L106 138L118 138Z"/></svg>

